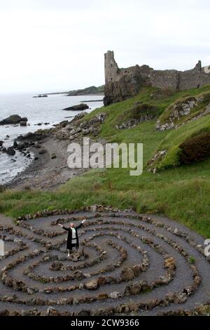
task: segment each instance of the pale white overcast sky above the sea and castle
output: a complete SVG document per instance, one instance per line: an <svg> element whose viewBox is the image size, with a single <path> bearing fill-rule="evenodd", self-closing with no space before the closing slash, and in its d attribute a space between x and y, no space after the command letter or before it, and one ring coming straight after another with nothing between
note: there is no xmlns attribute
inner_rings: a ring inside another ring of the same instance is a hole
<svg viewBox="0 0 210 330"><path fill-rule="evenodd" d="M104 84L119 67L210 64L209 0L0 0L0 93Z"/></svg>

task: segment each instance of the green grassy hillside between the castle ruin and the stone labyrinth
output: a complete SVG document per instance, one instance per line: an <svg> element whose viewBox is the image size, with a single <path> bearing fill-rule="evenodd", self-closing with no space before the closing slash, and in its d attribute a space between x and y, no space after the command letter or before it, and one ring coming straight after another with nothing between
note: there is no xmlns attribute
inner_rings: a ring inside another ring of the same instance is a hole
<svg viewBox="0 0 210 330"><path fill-rule="evenodd" d="M94 110L85 117L107 113L99 137L108 142L144 143L141 176L130 176L129 169L94 169L69 180L55 192L8 190L0 194L0 212L17 217L43 209L78 209L92 204L111 204L120 209L133 206L139 213L165 214L210 237L210 158L205 154L201 158L204 160L191 159L190 164L179 161L183 143L209 132L210 116L186 121L179 128L167 131L155 130L156 119L130 129L116 128L120 122L137 117L134 110L137 102L152 107L157 117L164 117L177 100L202 93L210 94L210 86L179 92L144 88L135 98ZM197 111L201 113L202 109ZM166 150L167 154L158 163L159 171L151 173L147 170L148 162L159 150Z"/></svg>

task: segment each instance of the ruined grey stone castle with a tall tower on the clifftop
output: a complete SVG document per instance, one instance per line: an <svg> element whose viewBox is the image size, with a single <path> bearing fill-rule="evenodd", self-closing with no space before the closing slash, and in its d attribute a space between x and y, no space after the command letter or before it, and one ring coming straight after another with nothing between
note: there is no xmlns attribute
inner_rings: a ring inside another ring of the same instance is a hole
<svg viewBox="0 0 210 330"><path fill-rule="evenodd" d="M139 93L142 86L174 90L200 88L210 84L210 66L202 67L199 61L192 70L153 70L148 65L135 65L120 69L113 51L105 55L104 105L110 105Z"/></svg>

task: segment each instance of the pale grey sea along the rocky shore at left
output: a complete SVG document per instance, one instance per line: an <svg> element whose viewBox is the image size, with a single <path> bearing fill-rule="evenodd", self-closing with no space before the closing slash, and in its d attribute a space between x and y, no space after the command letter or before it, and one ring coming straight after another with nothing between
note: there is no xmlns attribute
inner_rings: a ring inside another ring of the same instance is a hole
<svg viewBox="0 0 210 330"><path fill-rule="evenodd" d="M36 95L36 94L35 94ZM0 95L0 121L11 114L19 114L20 117L27 117L27 126L3 125L0 126L0 140L3 147L13 146L15 138L38 129L50 128L61 121L71 121L80 111L64 111L66 107L78 105L81 102L87 103L90 107L86 112L102 107L103 103L86 102L90 100L102 100L103 95L80 95L66 96L64 94L48 95L48 98L33 98L34 94L23 95ZM45 125L45 123L49 123ZM41 126L37 126L41 124ZM24 157L16 151L14 156L8 156L0 152L0 185L9 183L18 173L24 171L33 161Z"/></svg>

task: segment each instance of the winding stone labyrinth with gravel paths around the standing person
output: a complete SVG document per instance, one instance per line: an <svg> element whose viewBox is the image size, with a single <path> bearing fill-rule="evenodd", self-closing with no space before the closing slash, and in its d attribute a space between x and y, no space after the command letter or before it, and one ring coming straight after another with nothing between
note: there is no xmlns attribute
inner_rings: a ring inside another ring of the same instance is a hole
<svg viewBox="0 0 210 330"><path fill-rule="evenodd" d="M91 206L1 221L0 315L172 315L209 303L204 238L167 218ZM66 231L80 251L67 257Z"/></svg>

